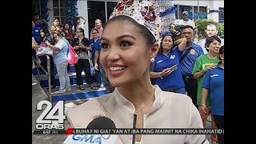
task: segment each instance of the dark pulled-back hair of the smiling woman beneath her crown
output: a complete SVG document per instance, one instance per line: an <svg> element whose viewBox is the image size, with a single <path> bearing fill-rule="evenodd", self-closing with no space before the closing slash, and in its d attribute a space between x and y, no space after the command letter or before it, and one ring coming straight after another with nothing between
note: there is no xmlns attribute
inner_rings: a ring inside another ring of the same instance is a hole
<svg viewBox="0 0 256 144"><path fill-rule="evenodd" d="M154 46L154 42L156 42L156 39L154 38L154 35L151 34L150 30L148 30L145 26L138 24L138 22L136 22L133 18L130 18L128 16L118 15L114 18L111 18L108 22L106 22L106 25L104 26L104 28L111 22L115 22L115 21L127 21L133 24L134 26L137 26L138 29L140 30L140 33L144 36L144 38L146 38L147 46ZM105 29L103 29L103 32L104 30Z"/></svg>

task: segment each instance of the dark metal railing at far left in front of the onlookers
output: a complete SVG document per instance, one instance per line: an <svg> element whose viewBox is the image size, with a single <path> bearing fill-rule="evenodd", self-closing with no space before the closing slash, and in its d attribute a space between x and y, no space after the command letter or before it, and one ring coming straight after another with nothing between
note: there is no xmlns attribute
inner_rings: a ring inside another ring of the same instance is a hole
<svg viewBox="0 0 256 144"><path fill-rule="evenodd" d="M38 62L38 56L36 56L36 59L32 56L32 59L33 59L33 61L36 63L36 67L37 67L37 70L38 70L38 82L39 83L41 83L40 82L40 73L39 73L39 66L42 68L42 70L46 73L46 75L48 76L48 87L49 87L49 100L50 100L50 102L52 102L51 101L51 83L50 83L50 57L48 56L48 55L45 55L46 56L46 58L47 58L47 72L46 72L46 70L40 65L40 63Z"/></svg>

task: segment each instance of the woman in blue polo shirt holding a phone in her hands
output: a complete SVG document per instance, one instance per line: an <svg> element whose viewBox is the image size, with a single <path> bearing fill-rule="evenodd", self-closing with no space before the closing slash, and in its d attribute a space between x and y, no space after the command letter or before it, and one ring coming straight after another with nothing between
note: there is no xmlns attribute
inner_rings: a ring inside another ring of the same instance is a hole
<svg viewBox="0 0 256 144"><path fill-rule="evenodd" d="M178 45L175 46L174 45ZM174 35L166 33L162 35L162 41L158 54L152 65L150 78L162 90L186 94L179 66L179 59L186 47L186 38L174 41Z"/></svg>

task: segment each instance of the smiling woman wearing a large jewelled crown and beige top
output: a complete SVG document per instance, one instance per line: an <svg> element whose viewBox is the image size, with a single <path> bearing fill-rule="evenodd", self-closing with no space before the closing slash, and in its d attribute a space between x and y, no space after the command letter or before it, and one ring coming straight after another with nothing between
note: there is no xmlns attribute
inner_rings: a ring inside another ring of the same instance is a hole
<svg viewBox="0 0 256 144"><path fill-rule="evenodd" d="M74 128L84 128L102 116L112 119L116 128L203 128L189 97L162 91L150 82L150 63L158 52L161 30L155 1L118 2L104 27L100 52L100 62L115 90L68 110ZM209 142L203 134L122 134L114 143Z"/></svg>

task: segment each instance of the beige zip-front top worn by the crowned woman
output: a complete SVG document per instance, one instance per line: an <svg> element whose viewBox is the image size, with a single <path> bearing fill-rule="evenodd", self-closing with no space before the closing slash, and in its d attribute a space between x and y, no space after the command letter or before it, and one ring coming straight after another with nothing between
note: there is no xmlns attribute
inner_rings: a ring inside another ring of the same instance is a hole
<svg viewBox="0 0 256 144"><path fill-rule="evenodd" d="M162 91L155 87L155 102L144 115L143 128L202 128L202 119L190 97ZM104 112L106 111L106 112ZM118 92L94 98L68 110L66 116L74 128L86 128L97 115L111 118L117 128L133 128L134 105ZM106 114L107 113L107 114ZM119 135L115 143L132 143L132 135ZM209 143L205 135L199 134L144 134L140 144L200 144Z"/></svg>

